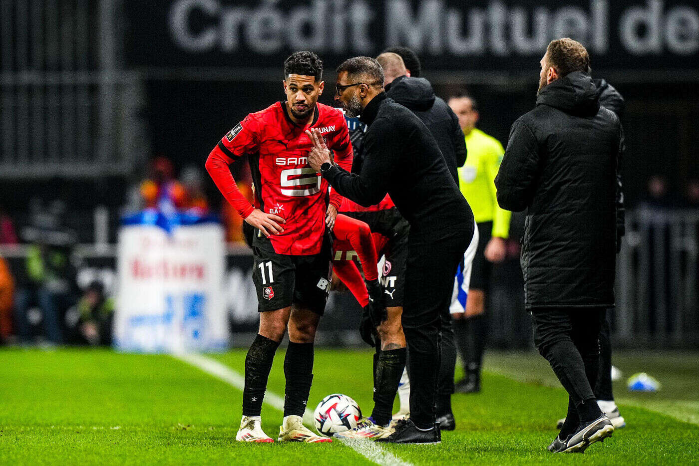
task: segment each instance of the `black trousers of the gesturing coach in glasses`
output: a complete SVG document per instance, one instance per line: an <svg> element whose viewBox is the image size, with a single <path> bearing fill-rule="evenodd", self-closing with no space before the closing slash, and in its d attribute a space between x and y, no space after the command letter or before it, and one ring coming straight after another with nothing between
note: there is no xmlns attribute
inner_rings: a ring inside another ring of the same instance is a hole
<svg viewBox="0 0 699 466"><path fill-rule="evenodd" d="M435 421L435 395L440 370L442 318L449 314L456 267L473 238L473 220L408 237L403 332L408 343L410 418L420 428Z"/></svg>

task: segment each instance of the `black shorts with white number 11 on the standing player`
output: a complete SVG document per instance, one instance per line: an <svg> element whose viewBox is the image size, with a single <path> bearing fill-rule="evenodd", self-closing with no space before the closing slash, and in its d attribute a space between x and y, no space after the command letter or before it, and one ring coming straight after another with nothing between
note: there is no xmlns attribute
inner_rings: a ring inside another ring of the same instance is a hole
<svg viewBox="0 0 699 466"><path fill-rule="evenodd" d="M259 312L298 303L323 315L333 277L329 238L324 240L321 252L311 256L277 254L254 246L252 257L252 282L257 289Z"/></svg>

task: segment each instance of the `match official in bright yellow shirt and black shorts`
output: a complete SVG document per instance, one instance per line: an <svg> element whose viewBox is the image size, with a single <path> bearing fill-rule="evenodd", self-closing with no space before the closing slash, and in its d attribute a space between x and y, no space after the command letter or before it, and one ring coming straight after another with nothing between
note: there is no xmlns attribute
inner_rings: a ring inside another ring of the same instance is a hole
<svg viewBox="0 0 699 466"><path fill-rule="evenodd" d="M452 314L456 346L466 374L456 382L457 393L480 391L480 372L487 325L484 318L485 293L490 282L491 263L505 259L505 239L510 233L512 212L503 210L496 199L495 177L505 150L500 142L475 127L478 108L472 96L453 96L449 107L459 117L466 136L468 156L459 168L459 187L466 197L478 226L480 239L473 259L470 286L463 314Z"/></svg>

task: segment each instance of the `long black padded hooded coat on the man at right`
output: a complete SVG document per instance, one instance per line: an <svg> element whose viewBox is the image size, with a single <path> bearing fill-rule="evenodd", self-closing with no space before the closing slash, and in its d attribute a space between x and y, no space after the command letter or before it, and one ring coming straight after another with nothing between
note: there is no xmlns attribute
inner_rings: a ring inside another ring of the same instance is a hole
<svg viewBox="0 0 699 466"><path fill-rule="evenodd" d="M512 125L495 184L507 210L528 208L521 265L525 306L611 307L619 118L575 72L539 92Z"/></svg>

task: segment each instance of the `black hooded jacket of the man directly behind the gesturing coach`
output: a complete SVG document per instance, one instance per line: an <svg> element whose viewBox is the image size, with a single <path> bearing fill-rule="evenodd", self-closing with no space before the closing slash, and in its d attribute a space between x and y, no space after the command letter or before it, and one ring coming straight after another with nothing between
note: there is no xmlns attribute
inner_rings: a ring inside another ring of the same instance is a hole
<svg viewBox="0 0 699 466"><path fill-rule="evenodd" d="M437 141L449 173L459 184L456 168L466 162L466 140L449 105L435 96L430 82L424 78L399 76L386 86L386 94L417 115Z"/></svg>

